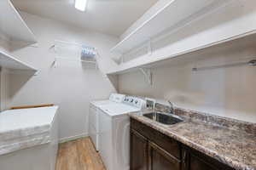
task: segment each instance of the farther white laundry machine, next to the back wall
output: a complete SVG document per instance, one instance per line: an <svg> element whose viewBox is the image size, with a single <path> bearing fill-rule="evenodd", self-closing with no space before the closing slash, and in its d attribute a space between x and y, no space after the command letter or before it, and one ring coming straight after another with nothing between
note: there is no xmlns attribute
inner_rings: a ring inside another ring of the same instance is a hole
<svg viewBox="0 0 256 170"><path fill-rule="evenodd" d="M99 150L99 108L102 105L121 103L124 98L124 94L110 94L109 99L90 102L89 136L90 139L92 139L92 142L95 145L97 151Z"/></svg>

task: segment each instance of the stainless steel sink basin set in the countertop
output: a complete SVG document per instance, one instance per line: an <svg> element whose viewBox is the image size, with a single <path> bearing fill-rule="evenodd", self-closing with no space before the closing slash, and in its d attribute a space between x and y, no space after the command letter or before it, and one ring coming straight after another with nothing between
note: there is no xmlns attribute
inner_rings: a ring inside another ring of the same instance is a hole
<svg viewBox="0 0 256 170"><path fill-rule="evenodd" d="M166 125L173 125L177 124L178 122L183 122L183 120L178 116L167 113L151 112L143 114L143 116L148 117L149 119L152 119L155 122L160 122Z"/></svg>

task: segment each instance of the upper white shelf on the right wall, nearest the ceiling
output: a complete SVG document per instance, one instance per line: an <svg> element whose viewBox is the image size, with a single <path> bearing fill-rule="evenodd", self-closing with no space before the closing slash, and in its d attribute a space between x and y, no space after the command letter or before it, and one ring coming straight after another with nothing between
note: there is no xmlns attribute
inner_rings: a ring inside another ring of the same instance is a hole
<svg viewBox="0 0 256 170"><path fill-rule="evenodd" d="M111 52L125 54L160 33L175 31L228 2L230 1L196 0L188 3L187 0L172 0L120 41Z"/></svg>

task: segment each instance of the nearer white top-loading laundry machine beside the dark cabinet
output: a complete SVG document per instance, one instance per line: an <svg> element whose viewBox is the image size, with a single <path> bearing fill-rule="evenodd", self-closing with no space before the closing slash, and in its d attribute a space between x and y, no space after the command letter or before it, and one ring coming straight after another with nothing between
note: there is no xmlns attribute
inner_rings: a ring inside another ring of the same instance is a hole
<svg viewBox="0 0 256 170"><path fill-rule="evenodd" d="M99 111L99 152L107 170L130 169L130 117L145 101L126 96L122 103L104 105Z"/></svg>

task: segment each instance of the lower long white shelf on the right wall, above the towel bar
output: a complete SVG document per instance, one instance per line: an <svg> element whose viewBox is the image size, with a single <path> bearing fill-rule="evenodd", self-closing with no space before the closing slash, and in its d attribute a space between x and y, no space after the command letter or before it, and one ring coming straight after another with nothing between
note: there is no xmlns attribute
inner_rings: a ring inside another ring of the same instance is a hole
<svg viewBox="0 0 256 170"><path fill-rule="evenodd" d="M196 32L194 33L194 31ZM188 36L184 38L183 32L189 32ZM255 35L256 2L235 0L226 5L225 8L218 8L214 13L201 18L201 20L196 20L174 34L170 34L170 39L175 37L174 42L171 41L161 48L154 48L152 54L140 54L135 59L123 62L117 67L109 69L108 75L150 68L151 65L158 65L158 63L165 62L166 59L170 60L183 54L242 37L255 37Z"/></svg>

